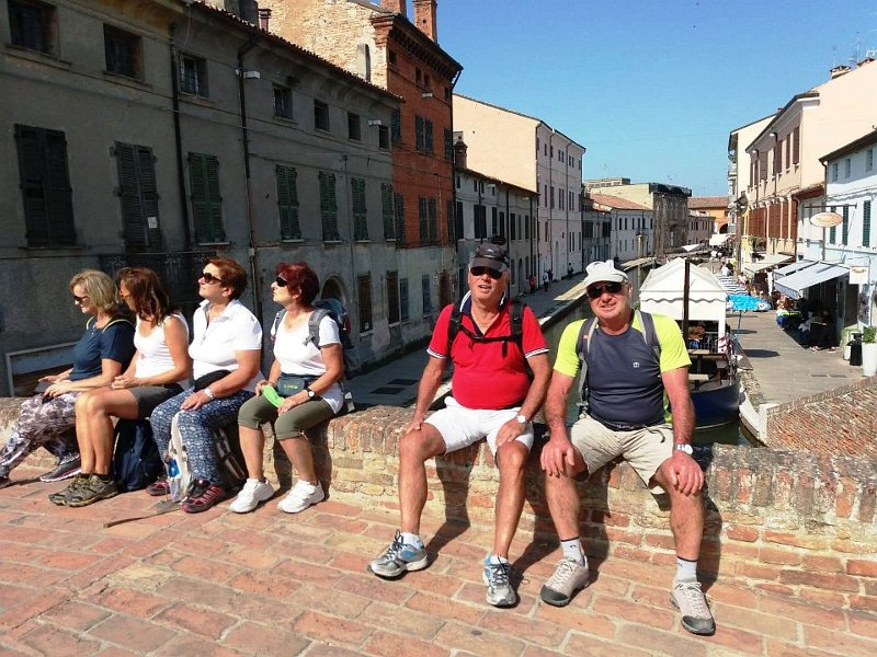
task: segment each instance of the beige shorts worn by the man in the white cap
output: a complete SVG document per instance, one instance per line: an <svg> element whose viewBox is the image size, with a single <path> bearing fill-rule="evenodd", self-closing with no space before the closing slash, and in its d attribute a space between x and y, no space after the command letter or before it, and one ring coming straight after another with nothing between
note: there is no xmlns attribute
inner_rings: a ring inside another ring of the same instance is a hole
<svg viewBox="0 0 877 657"><path fill-rule="evenodd" d="M670 424L615 431L585 415L572 425L569 435L589 473L593 474L616 457L623 457L647 486L661 463L673 456L673 427ZM659 493L662 488L654 486L651 491Z"/></svg>

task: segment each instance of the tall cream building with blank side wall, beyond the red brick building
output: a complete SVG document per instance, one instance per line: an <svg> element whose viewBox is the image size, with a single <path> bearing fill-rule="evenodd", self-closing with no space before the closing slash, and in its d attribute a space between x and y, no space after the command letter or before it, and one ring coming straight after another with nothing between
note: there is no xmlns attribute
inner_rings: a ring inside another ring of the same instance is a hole
<svg viewBox="0 0 877 657"><path fill-rule="evenodd" d="M581 272L586 264L581 201L584 147L536 117L460 94L454 94L454 130L468 147L469 168L531 194L536 245L524 268L537 278L549 270L559 278L570 267Z"/></svg>

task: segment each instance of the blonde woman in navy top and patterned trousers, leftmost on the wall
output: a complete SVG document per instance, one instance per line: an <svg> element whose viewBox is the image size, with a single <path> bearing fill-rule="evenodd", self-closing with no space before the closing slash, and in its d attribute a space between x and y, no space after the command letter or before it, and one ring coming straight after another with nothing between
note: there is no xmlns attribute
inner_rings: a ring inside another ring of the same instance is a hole
<svg viewBox="0 0 877 657"><path fill-rule="evenodd" d="M70 291L80 312L90 315L73 347L73 367L43 377L39 381L48 388L22 404L18 426L0 450L0 487L10 484L12 469L39 446L58 457L58 465L43 481L77 474L79 452L71 431L76 400L86 390L110 385L134 355L134 325L118 314L113 280L103 272L86 269L70 279Z"/></svg>

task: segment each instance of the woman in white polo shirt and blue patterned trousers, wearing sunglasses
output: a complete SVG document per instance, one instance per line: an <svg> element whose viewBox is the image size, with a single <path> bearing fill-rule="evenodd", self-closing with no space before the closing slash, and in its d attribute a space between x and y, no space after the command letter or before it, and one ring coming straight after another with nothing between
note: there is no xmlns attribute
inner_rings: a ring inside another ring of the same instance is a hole
<svg viewBox="0 0 877 657"><path fill-rule="evenodd" d="M237 420L238 410L253 396L261 380L259 358L262 326L238 301L247 288L247 272L226 257L214 257L198 278L204 301L192 319L189 346L195 384L160 404L150 417L152 434L162 456L168 453L171 422L179 413L179 428L192 469L192 485L183 500L187 514L206 511L228 496L223 488L214 446L214 429ZM150 495L169 493L168 483L147 487Z"/></svg>

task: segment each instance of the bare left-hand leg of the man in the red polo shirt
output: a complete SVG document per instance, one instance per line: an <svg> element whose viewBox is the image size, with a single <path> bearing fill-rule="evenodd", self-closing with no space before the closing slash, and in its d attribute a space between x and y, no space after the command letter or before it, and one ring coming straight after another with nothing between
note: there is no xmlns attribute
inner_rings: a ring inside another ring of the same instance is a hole
<svg viewBox="0 0 877 657"><path fill-rule="evenodd" d="M401 530L420 533L420 516L426 504L428 459L445 453L446 447L438 429L422 424L420 429L410 431L399 443L399 507Z"/></svg>

